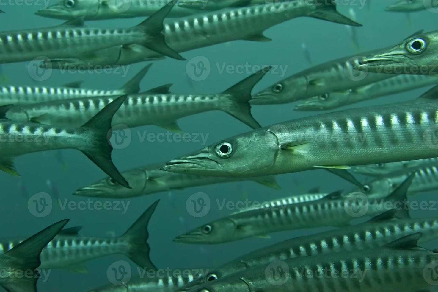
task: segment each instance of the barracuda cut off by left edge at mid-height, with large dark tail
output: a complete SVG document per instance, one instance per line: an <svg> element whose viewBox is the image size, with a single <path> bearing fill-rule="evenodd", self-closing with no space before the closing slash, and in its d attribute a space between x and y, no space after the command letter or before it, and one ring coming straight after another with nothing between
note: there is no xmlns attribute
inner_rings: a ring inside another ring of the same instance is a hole
<svg viewBox="0 0 438 292"><path fill-rule="evenodd" d="M127 181L111 160L113 148L109 144L111 120L126 100L126 95L108 104L83 126L59 127L37 123L17 123L5 119L11 105L0 107L0 170L18 176L14 158L26 153L55 149L78 149L106 174L124 187Z"/></svg>

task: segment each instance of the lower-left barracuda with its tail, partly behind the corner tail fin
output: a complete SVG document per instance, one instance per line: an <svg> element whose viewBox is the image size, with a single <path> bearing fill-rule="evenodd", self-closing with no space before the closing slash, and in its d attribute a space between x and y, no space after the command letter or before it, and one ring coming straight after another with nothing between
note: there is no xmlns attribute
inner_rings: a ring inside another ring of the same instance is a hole
<svg viewBox="0 0 438 292"><path fill-rule="evenodd" d="M148 222L154 213L155 201L138 220L120 237L98 238L78 235L81 227L71 227L60 231L41 252L39 270L68 269L87 272L84 263L102 256L124 254L145 270L155 266L149 259ZM126 211L126 210L125 210ZM0 252L7 252L21 242L19 239L0 240Z"/></svg>

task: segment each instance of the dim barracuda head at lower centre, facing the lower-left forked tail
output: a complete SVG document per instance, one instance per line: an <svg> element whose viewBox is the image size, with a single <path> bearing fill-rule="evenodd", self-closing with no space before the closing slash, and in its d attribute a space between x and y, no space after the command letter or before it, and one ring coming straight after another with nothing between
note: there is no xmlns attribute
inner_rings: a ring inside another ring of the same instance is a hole
<svg viewBox="0 0 438 292"><path fill-rule="evenodd" d="M229 217L202 225L185 234L178 235L174 242L192 243L192 244L215 244L220 242L231 242L235 238L237 224Z"/></svg>

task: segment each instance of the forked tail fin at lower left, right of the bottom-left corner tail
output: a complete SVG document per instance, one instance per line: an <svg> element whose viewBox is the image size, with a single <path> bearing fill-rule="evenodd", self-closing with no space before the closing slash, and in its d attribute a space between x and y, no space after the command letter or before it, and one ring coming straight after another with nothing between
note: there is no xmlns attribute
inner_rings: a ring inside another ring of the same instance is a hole
<svg viewBox="0 0 438 292"><path fill-rule="evenodd" d="M134 224L122 235L129 242L129 249L124 252L134 263L145 270L156 270L149 258L150 248L147 243L149 238L148 224L160 200L155 201Z"/></svg>

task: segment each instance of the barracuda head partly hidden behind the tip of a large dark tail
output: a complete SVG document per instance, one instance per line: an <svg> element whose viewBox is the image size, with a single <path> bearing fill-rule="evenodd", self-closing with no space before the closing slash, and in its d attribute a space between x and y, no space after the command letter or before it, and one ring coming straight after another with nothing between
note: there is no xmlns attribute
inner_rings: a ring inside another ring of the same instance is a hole
<svg viewBox="0 0 438 292"><path fill-rule="evenodd" d="M132 188L120 185L111 177L98 180L88 186L81 187L73 195L93 198L131 198L152 193L148 192L147 175L142 169L131 169L121 173Z"/></svg>

